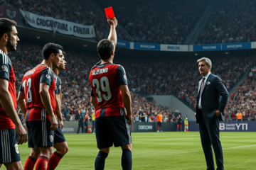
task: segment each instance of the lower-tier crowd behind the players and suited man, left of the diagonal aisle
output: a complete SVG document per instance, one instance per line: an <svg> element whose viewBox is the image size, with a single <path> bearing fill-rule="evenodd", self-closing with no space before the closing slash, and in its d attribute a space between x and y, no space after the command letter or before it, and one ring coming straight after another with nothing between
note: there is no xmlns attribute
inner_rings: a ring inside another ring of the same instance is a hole
<svg viewBox="0 0 256 170"><path fill-rule="evenodd" d="M26 50L22 50L26 49ZM96 55L67 52L68 62L65 72L60 73L62 79L63 115L67 120L74 120L78 109L85 106L89 113L92 112L90 103L90 82L88 75L90 68L99 60ZM14 61L16 70L17 89L21 84L23 74L41 63L41 45L21 43L18 50L10 57ZM215 57L213 58L213 74L222 77L228 91L237 84L242 75L250 67L255 67L254 57ZM196 59L186 60L114 60L122 64L127 71L129 88L132 93L132 111L144 112L146 115L162 112L172 121L171 109L157 106L155 102L146 101L142 96L152 94L174 95L193 110L196 108L196 95L198 80L201 75L196 72ZM79 63L79 64L78 64ZM235 67L234 67L235 66ZM144 72L147 70L147 72ZM157 73L157 74L156 74ZM144 78L146 77L146 79ZM191 82L188 84L188 80ZM143 109L143 110L142 110ZM154 121L155 116L151 116ZM175 118L174 118L174 121Z"/></svg>

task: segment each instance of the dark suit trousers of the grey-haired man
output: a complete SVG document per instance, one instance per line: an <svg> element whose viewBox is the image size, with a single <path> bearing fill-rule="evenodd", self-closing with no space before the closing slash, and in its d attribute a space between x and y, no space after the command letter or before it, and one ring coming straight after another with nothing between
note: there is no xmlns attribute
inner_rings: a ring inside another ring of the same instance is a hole
<svg viewBox="0 0 256 170"><path fill-rule="evenodd" d="M213 162L213 150L215 153L217 170L223 170L223 149L220 143L219 118L215 116L213 120L201 120L199 123L199 131L203 152L206 157L207 170L215 169Z"/></svg>

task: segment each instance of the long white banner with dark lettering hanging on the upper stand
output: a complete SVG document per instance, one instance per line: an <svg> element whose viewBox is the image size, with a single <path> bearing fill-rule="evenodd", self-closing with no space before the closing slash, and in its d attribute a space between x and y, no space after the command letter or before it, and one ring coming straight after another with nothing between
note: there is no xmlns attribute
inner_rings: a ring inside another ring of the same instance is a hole
<svg viewBox="0 0 256 170"><path fill-rule="evenodd" d="M74 35L80 38L95 38L95 30L93 26L84 26L70 21L59 20L48 16L38 16L35 13L21 11L28 25L43 29L52 30L65 35Z"/></svg>

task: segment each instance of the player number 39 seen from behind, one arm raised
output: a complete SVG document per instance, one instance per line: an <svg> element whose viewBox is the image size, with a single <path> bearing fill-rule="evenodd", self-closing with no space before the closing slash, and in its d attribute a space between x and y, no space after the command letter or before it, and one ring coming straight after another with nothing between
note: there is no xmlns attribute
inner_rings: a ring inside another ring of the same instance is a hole
<svg viewBox="0 0 256 170"><path fill-rule="evenodd" d="M108 20L110 35L97 44L102 62L92 67L90 84L91 101L95 107L95 130L99 152L95 159L95 170L105 167L110 147L122 148L122 169L132 169L132 137L129 125L132 123L131 95L127 77L121 65L113 64L117 45L117 20ZM124 106L127 115L124 112Z"/></svg>

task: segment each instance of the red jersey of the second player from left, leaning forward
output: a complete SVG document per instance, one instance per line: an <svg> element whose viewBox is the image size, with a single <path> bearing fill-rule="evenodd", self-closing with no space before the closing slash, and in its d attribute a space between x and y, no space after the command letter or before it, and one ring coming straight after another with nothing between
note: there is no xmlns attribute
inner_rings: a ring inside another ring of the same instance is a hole
<svg viewBox="0 0 256 170"><path fill-rule="evenodd" d="M41 83L46 83L50 86L50 103L53 107L53 111L55 112L56 102L54 91L56 85L53 70L45 64L39 64L24 74L21 87L19 89L19 91L23 91L25 94L27 108L25 117L26 121L50 120L50 115L47 113L45 106L43 106L43 102L39 94Z"/></svg>

